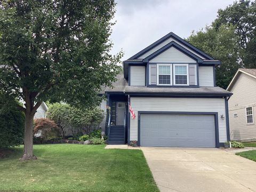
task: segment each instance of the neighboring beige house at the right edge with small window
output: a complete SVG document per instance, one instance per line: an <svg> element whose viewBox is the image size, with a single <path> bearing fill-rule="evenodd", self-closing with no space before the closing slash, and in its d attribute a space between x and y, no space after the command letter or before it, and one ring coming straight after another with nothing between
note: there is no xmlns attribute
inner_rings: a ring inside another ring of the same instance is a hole
<svg viewBox="0 0 256 192"><path fill-rule="evenodd" d="M238 69L227 90L230 139L256 141L256 69Z"/></svg>

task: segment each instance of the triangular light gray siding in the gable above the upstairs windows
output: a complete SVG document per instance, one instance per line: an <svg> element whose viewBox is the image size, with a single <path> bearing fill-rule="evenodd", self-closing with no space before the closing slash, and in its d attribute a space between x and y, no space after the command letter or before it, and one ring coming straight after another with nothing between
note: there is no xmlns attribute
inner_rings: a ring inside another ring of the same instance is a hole
<svg viewBox="0 0 256 192"><path fill-rule="evenodd" d="M163 53L151 59L150 62L180 62L180 63L196 63L196 61L188 55L182 53L175 47L170 47Z"/></svg>

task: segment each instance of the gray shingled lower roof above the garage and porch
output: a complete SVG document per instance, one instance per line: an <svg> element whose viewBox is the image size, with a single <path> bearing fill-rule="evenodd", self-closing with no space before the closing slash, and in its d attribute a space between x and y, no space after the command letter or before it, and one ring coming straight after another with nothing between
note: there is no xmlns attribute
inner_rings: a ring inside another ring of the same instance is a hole
<svg viewBox="0 0 256 192"><path fill-rule="evenodd" d="M113 83L113 88L104 87L104 92L119 92L127 94L205 94L205 95L231 95L231 93L218 86L209 87L146 87L146 86L129 86L123 74L117 75L117 81Z"/></svg>

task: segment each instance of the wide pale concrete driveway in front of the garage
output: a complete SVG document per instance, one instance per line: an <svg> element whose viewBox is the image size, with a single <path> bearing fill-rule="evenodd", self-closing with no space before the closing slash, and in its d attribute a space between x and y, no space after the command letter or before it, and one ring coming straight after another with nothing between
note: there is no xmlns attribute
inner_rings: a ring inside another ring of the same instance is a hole
<svg viewBox="0 0 256 192"><path fill-rule="evenodd" d="M165 191L256 191L256 162L214 148L141 147Z"/></svg>

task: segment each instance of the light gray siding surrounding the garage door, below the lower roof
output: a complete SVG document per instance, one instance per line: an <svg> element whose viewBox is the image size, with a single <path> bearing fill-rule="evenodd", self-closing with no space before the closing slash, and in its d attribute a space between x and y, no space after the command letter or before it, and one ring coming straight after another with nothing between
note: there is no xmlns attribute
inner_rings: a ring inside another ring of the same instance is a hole
<svg viewBox="0 0 256 192"><path fill-rule="evenodd" d="M225 99L222 98L137 98L131 97L135 119L130 118L130 140L138 140L138 111L217 112L219 142L227 141Z"/></svg>

